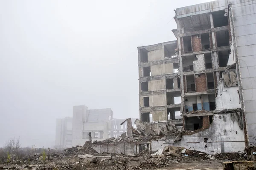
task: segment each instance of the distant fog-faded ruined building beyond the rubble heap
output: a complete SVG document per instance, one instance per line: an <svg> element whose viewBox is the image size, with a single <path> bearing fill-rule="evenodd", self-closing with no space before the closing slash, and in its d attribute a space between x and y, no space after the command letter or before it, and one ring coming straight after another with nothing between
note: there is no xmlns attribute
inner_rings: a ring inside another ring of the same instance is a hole
<svg viewBox="0 0 256 170"><path fill-rule="evenodd" d="M132 119L133 122L135 119ZM83 146L88 141L89 133L92 141L118 137L126 132L126 122L120 125L124 120L113 118L111 108L88 109L83 105L74 106L73 118L57 119L55 147Z"/></svg>

